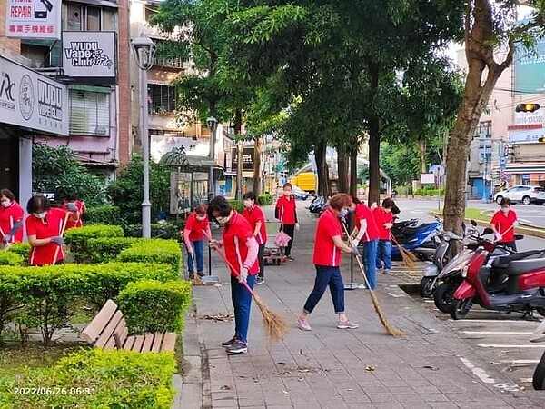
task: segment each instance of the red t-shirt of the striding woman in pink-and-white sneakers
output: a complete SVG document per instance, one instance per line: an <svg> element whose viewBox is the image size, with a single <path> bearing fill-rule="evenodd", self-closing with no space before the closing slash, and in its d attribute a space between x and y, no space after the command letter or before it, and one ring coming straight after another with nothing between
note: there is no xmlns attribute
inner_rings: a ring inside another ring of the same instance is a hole
<svg viewBox="0 0 545 409"><path fill-rule="evenodd" d="M314 239L314 255L312 263L316 265L327 265L338 267L341 263L341 250L333 243L333 237L342 237L342 225L337 214L332 208L328 208L318 219L316 237Z"/></svg>

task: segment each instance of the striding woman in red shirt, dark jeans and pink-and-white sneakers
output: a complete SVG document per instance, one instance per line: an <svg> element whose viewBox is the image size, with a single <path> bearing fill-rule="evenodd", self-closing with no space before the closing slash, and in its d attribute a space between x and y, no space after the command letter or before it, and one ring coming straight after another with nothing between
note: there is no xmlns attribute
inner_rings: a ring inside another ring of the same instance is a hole
<svg viewBox="0 0 545 409"><path fill-rule="evenodd" d="M348 213L350 205L346 194L333 195L329 207L318 219L314 240L312 263L316 267L314 288L297 318L297 326L302 331L311 331L307 316L322 299L326 288L330 287L335 314L339 315L337 328L356 329L358 324L352 323L344 313L344 283L342 282L341 253L352 253L352 247L342 241L342 225L340 217Z"/></svg>

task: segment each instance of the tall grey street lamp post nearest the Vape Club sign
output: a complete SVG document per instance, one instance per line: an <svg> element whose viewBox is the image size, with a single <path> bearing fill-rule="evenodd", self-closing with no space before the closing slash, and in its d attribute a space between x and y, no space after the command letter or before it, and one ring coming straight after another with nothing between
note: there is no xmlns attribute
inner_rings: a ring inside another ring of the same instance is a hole
<svg viewBox="0 0 545 409"><path fill-rule="evenodd" d="M154 65L157 47L151 38L140 35L131 40L136 65L140 68L140 135L144 161L144 197L142 201L142 237L152 235L152 203L150 202L150 135L148 129L147 71Z"/></svg>

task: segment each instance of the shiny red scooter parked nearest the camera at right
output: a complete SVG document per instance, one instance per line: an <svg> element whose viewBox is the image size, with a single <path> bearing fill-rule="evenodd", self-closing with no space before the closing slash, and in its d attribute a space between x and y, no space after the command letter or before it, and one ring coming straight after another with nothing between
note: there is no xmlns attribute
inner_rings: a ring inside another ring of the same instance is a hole
<svg viewBox="0 0 545 409"><path fill-rule="evenodd" d="M532 314L537 310L538 313L545 314L545 250L540 254L530 254L530 258L520 259L526 254L499 257L498 266L505 266L501 274L505 274L507 280L500 288L490 292L487 288L492 284L490 277L487 279L482 276L481 271L496 245L483 240L469 263L462 268L463 281L454 293L451 304L453 319L460 320L466 316L474 302L487 310L517 311L524 314ZM493 272L494 266L491 270Z"/></svg>

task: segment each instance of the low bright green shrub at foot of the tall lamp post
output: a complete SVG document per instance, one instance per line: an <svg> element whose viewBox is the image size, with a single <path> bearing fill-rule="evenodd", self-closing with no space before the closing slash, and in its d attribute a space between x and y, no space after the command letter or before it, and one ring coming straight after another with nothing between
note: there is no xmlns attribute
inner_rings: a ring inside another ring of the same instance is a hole
<svg viewBox="0 0 545 409"><path fill-rule="evenodd" d="M180 244L173 240L141 239L122 251L117 259L121 262L168 263L180 278L181 255Z"/></svg>

